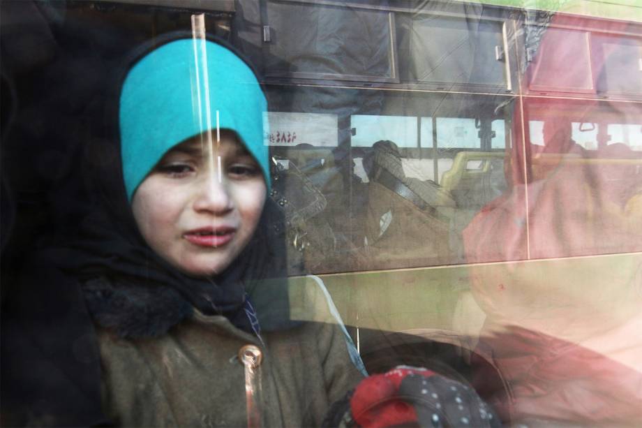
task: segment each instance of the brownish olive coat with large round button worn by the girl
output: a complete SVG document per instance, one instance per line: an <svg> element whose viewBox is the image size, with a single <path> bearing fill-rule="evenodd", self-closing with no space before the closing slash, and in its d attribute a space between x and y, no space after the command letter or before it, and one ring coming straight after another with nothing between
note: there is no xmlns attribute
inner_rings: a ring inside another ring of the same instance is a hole
<svg viewBox="0 0 642 428"><path fill-rule="evenodd" d="M262 354L254 398L263 426L320 425L361 374L320 286L309 277L287 281L290 316L304 322L261 334L262 341L223 316L202 313L158 339L98 330L107 416L128 427L246 426L246 374L238 355L254 345ZM275 282L257 285L268 300Z"/></svg>

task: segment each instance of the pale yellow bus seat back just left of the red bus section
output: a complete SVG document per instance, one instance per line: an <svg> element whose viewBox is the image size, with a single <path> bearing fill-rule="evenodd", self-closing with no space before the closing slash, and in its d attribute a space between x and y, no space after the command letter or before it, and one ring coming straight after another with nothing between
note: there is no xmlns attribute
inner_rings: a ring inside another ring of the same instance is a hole
<svg viewBox="0 0 642 428"><path fill-rule="evenodd" d="M459 152L452 168L444 172L441 186L458 208L481 208L506 188L504 157L498 152ZM471 163L478 165L470 168Z"/></svg>

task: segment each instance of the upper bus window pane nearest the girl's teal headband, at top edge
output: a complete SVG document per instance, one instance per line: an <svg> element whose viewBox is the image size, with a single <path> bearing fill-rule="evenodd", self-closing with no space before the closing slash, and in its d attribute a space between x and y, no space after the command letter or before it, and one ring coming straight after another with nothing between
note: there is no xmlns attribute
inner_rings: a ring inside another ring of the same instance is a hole
<svg viewBox="0 0 642 428"><path fill-rule="evenodd" d="M389 13L350 6L266 1L268 76L396 80Z"/></svg>

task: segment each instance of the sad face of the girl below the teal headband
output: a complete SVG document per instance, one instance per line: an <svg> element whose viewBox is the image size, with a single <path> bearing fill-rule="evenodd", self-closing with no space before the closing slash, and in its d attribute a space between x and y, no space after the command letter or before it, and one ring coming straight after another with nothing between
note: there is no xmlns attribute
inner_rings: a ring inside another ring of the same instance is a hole
<svg viewBox="0 0 642 428"><path fill-rule="evenodd" d="M260 166L234 133L208 146L197 137L171 149L132 200L147 244L192 276L221 273L239 256L267 193Z"/></svg>

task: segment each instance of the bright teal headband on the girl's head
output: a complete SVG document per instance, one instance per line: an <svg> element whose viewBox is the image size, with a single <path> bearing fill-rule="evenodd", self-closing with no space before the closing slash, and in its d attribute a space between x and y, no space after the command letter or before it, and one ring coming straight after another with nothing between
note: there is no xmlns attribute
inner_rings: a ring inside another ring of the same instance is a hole
<svg viewBox="0 0 642 428"><path fill-rule="evenodd" d="M226 47L192 38L162 45L140 59L120 96L128 200L169 149L216 130L217 112L218 127L236 131L269 188L269 154L263 142L267 101L251 68Z"/></svg>

